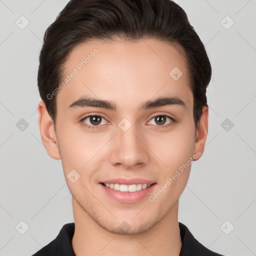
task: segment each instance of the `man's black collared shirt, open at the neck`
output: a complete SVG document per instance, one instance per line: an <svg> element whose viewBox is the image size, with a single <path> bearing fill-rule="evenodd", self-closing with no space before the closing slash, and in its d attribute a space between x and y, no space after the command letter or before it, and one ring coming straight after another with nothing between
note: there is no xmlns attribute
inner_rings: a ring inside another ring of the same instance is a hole
<svg viewBox="0 0 256 256"><path fill-rule="evenodd" d="M179 256L223 256L204 247L183 223L178 222L178 225L182 242ZM74 222L64 224L56 238L32 256L75 256L71 244L73 234Z"/></svg>

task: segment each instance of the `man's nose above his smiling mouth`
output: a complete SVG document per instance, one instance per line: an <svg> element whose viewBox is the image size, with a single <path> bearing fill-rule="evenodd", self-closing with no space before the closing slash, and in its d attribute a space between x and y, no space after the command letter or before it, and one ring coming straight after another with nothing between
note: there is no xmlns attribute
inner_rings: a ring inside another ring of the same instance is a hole
<svg viewBox="0 0 256 256"><path fill-rule="evenodd" d="M134 165L141 167L147 164L149 149L145 138L136 130L135 125L131 125L126 131L118 128L111 143L110 161L113 165L131 168Z"/></svg>

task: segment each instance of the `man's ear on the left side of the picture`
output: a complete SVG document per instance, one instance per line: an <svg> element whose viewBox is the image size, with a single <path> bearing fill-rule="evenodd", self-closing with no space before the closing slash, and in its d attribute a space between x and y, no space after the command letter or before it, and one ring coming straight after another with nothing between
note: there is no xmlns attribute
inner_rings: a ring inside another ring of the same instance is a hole
<svg viewBox="0 0 256 256"><path fill-rule="evenodd" d="M41 140L47 154L56 160L60 159L53 120L48 114L45 103L40 100L38 103L38 126L41 133Z"/></svg>

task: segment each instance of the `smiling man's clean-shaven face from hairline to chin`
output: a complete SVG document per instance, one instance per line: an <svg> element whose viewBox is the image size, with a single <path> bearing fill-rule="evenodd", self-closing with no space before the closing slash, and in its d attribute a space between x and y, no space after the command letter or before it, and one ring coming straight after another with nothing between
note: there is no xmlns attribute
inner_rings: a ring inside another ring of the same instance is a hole
<svg viewBox="0 0 256 256"><path fill-rule="evenodd" d="M56 95L55 143L44 144L52 158L61 158L76 210L105 230L141 233L168 216L191 157L203 152L207 114L196 130L182 52L179 45L147 39L90 41L68 55L63 81L69 78ZM104 181L153 185L118 192Z"/></svg>

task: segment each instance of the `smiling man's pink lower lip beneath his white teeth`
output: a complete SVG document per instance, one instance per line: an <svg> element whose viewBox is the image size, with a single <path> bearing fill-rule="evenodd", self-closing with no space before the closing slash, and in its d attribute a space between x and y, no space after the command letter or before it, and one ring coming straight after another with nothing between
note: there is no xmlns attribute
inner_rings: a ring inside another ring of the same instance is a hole
<svg viewBox="0 0 256 256"><path fill-rule="evenodd" d="M150 193L152 191L152 189L154 188L156 183L148 186L145 189L141 189L141 190L135 191L135 192L128 192L128 191L127 192L122 192L122 191L117 191L113 188L109 188L107 186L104 186L101 183L99 183L99 185L101 185L103 187L104 191L108 195L110 195L111 197L113 197L117 201L124 202L124 203L132 203L132 202L138 202L139 200L144 198L148 193Z"/></svg>

